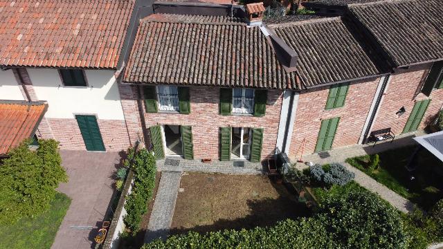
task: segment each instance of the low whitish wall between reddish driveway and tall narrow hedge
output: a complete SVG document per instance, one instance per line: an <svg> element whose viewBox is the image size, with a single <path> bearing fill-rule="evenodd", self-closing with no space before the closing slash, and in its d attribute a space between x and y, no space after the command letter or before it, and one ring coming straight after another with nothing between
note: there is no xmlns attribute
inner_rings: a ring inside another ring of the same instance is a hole
<svg viewBox="0 0 443 249"><path fill-rule="evenodd" d="M123 222L123 216L127 214L125 210L126 196L132 192L132 183L134 182L134 172L129 169L129 174L125 181L125 186L123 187L122 193L120 194L120 199L118 200L118 205L114 216L112 216L111 225L109 225L109 230L103 247L105 249L118 248L118 243L120 243L120 234L125 230L126 225Z"/></svg>

